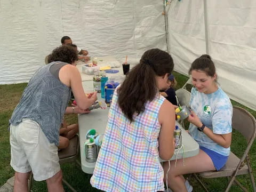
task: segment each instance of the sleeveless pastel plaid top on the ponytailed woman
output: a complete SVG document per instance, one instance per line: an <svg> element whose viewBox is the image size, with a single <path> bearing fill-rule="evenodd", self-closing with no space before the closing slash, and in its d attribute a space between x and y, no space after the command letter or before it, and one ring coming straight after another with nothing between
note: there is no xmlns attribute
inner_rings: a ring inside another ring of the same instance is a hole
<svg viewBox="0 0 256 192"><path fill-rule="evenodd" d="M158 111L165 98L157 95L147 102L145 111L134 115L131 124L117 98L115 91L91 185L104 191L164 190L158 152Z"/></svg>

